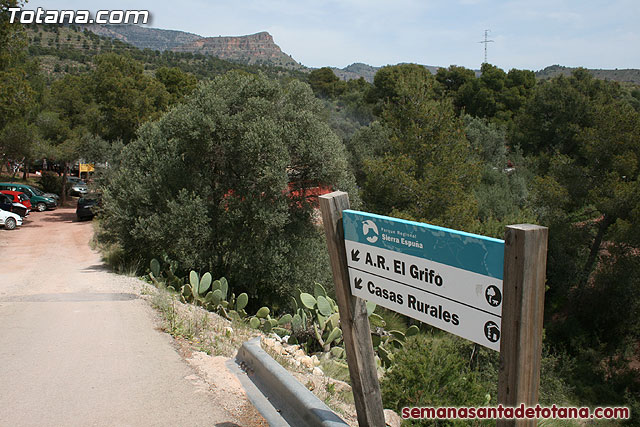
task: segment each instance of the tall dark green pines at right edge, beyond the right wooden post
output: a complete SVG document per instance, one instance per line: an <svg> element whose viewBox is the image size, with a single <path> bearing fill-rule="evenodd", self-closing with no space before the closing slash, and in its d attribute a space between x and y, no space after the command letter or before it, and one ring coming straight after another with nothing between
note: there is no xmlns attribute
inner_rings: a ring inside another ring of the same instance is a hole
<svg viewBox="0 0 640 427"><path fill-rule="evenodd" d="M573 368L564 378L593 404L640 398L640 383L630 380L640 116L618 94L617 84L578 70L540 85L518 120L537 173L533 211L549 226L547 342L568 354Z"/></svg>

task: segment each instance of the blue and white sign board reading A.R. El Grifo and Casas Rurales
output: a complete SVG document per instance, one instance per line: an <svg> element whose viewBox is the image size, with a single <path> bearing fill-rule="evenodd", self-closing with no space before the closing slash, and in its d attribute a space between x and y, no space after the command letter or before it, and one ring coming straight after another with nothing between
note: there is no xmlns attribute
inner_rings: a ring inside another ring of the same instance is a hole
<svg viewBox="0 0 640 427"><path fill-rule="evenodd" d="M504 241L343 211L353 295L500 350Z"/></svg>

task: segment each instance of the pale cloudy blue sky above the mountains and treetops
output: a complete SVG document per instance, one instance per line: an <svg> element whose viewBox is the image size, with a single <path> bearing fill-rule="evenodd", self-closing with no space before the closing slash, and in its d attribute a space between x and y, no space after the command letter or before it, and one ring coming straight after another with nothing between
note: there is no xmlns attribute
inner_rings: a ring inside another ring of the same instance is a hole
<svg viewBox="0 0 640 427"><path fill-rule="evenodd" d="M640 68L640 0L31 0L24 9L149 10L201 36L268 31L309 67L399 62L505 70Z"/></svg>

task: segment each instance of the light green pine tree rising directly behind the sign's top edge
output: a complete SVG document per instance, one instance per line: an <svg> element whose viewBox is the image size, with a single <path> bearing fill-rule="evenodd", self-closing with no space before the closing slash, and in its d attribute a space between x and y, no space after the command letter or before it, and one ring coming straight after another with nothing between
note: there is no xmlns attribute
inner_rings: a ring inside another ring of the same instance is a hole
<svg viewBox="0 0 640 427"><path fill-rule="evenodd" d="M433 77L397 67L387 67L377 89L387 102L381 124L390 137L385 154L364 161L363 200L377 213L468 228L477 168L462 122L449 102L433 99Z"/></svg>

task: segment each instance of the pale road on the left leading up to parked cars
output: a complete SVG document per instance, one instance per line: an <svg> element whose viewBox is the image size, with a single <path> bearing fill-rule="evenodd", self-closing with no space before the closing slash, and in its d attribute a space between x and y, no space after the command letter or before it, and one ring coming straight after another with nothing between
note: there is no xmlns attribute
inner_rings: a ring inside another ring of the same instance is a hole
<svg viewBox="0 0 640 427"><path fill-rule="evenodd" d="M0 230L0 426L253 424L158 330L140 284L107 271L91 222L29 218Z"/></svg>

